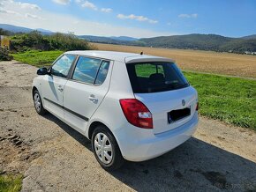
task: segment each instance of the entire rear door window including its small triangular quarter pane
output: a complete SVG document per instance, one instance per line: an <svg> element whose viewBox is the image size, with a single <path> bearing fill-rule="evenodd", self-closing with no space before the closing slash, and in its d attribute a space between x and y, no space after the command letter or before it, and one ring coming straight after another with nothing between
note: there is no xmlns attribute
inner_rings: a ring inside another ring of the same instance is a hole
<svg viewBox="0 0 256 192"><path fill-rule="evenodd" d="M72 79L86 84L101 85L107 77L108 70L108 61L80 56Z"/></svg>

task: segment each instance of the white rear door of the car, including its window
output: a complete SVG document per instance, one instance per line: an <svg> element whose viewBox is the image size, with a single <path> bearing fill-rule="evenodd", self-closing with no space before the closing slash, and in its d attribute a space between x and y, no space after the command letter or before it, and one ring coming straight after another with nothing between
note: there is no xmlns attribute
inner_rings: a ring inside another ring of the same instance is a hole
<svg viewBox="0 0 256 192"><path fill-rule="evenodd" d="M64 88L64 120L84 134L87 122L109 91L110 61L79 56Z"/></svg>

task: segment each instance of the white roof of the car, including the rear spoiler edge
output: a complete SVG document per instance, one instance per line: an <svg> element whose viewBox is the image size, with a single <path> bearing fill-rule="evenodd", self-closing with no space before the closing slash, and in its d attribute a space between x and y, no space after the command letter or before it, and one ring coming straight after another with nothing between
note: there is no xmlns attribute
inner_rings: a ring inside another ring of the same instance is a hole
<svg viewBox="0 0 256 192"><path fill-rule="evenodd" d="M85 55L92 56L107 60L114 60L124 63L141 63L141 62L168 62L175 63L174 60L166 57L154 56L154 55L140 55L134 53L126 52L117 52L117 51L98 51L98 50L89 50L89 51L68 51L64 54L70 55Z"/></svg>

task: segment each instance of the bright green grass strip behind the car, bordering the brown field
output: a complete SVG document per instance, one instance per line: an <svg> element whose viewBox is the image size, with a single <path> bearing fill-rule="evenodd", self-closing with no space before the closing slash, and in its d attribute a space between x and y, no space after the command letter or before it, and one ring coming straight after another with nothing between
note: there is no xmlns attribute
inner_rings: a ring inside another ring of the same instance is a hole
<svg viewBox="0 0 256 192"><path fill-rule="evenodd" d="M14 59L37 67L52 63L62 51L28 51ZM256 81L184 72L199 92L200 114L236 126L256 130Z"/></svg>

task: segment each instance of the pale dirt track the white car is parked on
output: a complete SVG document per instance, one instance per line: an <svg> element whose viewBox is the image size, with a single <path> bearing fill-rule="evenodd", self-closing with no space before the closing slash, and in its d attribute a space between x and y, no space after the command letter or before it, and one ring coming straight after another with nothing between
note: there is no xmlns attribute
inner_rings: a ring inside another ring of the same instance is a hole
<svg viewBox="0 0 256 192"><path fill-rule="evenodd" d="M24 174L23 191L256 190L255 132L202 117L195 136L175 150L107 173L85 137L36 114L35 71L0 63L0 172Z"/></svg>

